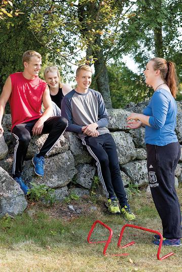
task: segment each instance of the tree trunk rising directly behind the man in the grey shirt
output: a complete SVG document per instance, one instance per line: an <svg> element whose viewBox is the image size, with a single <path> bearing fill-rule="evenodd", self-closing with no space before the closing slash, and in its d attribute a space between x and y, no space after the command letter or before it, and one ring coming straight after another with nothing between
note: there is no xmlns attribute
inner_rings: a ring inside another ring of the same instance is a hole
<svg viewBox="0 0 182 272"><path fill-rule="evenodd" d="M101 48L99 34L97 35L95 44L98 45L99 48ZM107 68L105 65L105 59L104 59L102 49L93 52L93 56L94 58L97 58L97 60L94 63L94 67L95 67L95 79L96 79L98 91L101 93L103 97L106 108L112 108L110 87L108 85Z"/></svg>

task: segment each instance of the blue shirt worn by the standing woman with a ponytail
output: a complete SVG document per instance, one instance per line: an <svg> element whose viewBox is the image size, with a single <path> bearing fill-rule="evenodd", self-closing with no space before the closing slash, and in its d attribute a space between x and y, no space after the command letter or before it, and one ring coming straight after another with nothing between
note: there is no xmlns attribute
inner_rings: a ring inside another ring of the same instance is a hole
<svg viewBox="0 0 182 272"><path fill-rule="evenodd" d="M177 142L175 134L177 105L175 99L165 89L157 90L143 110L144 115L150 116L150 126L145 126L145 143L166 145Z"/></svg>

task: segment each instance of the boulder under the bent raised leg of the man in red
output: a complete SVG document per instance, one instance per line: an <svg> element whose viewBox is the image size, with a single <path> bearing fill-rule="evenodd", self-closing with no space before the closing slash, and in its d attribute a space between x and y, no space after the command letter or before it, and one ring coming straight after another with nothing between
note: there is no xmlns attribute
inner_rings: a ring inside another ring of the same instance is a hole
<svg viewBox="0 0 182 272"><path fill-rule="evenodd" d="M41 136L32 136L30 143L28 145L28 150L26 154L26 159L31 159L35 153L38 153L43 144L45 143L48 134L43 134ZM62 135L56 145L51 150L49 156L63 153L69 149L69 142Z"/></svg>

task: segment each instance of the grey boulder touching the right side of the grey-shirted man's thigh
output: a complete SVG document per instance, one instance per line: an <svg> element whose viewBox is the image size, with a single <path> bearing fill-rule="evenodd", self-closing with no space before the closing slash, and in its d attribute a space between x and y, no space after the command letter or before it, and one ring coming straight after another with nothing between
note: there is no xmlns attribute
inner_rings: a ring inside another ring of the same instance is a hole
<svg viewBox="0 0 182 272"><path fill-rule="evenodd" d="M129 133L123 131L111 133L118 150L119 163L125 164L136 158L136 151Z"/></svg>

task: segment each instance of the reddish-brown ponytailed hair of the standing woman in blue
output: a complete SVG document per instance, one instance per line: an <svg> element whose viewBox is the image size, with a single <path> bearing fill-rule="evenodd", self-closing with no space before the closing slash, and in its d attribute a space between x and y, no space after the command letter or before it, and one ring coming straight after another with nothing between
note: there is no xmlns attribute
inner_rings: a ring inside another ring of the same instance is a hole
<svg viewBox="0 0 182 272"><path fill-rule="evenodd" d="M177 93L177 75L175 69L175 63L172 61L167 61L162 58L153 58L151 61L154 62L154 70L160 70L161 77L169 87L171 94L176 98Z"/></svg>

